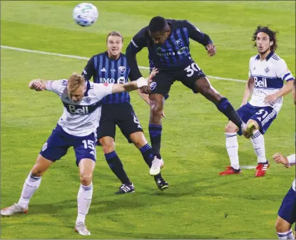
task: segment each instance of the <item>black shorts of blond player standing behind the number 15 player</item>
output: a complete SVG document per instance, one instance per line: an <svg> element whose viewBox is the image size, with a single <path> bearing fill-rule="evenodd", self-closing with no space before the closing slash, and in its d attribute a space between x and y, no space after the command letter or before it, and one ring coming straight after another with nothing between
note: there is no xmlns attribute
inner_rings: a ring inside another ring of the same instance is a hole
<svg viewBox="0 0 296 240"><path fill-rule="evenodd" d="M130 103L102 105L100 125L97 128L98 140L107 136L113 137L115 140L116 125L118 125L121 132L130 143L130 135L133 132L143 132L142 126Z"/></svg>

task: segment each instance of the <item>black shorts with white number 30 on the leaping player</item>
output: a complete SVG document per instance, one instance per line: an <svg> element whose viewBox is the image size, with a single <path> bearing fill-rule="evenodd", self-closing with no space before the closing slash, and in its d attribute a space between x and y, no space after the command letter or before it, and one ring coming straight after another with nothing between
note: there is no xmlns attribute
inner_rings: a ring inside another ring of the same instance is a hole
<svg viewBox="0 0 296 240"><path fill-rule="evenodd" d="M205 77L205 73L194 62L190 63L187 67L178 71L162 71L153 78L153 82L150 83L150 90L152 93L159 93L168 98L170 92L170 86L173 85L175 80L179 80L187 88L193 90L193 93L198 93L196 90L195 82L199 78Z"/></svg>

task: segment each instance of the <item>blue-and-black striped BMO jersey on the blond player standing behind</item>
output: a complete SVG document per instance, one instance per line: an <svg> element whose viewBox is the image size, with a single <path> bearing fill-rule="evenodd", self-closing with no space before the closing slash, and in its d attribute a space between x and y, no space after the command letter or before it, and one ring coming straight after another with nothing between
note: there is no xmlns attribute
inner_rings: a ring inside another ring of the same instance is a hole
<svg viewBox="0 0 296 240"><path fill-rule="evenodd" d="M128 67L126 55L112 60L108 53L99 53L92 56L88 61L86 68L81 73L86 80L93 77L94 83L127 83L130 77L130 68ZM113 93L103 98L103 104L111 103L130 103L131 97L128 92Z"/></svg>

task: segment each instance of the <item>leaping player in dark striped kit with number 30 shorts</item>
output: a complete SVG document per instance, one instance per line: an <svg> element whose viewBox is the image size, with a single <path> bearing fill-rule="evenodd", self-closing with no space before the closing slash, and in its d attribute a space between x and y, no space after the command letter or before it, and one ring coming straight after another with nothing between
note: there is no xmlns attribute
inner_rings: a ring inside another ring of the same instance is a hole
<svg viewBox="0 0 296 240"><path fill-rule="evenodd" d="M160 140L163 130L161 114L165 98L168 98L170 86L175 80L180 80L183 85L193 90L193 93L201 93L239 128L243 125L243 121L228 99L220 95L210 85L205 73L193 61L190 55L189 38L205 46L209 56L215 55L216 48L207 34L188 21L164 19L161 16L153 17L149 25L132 38L126 49L126 57L133 78L142 78L136 54L143 47L148 48L150 63L153 63L159 71L153 78L153 82L150 83L150 89L148 87L141 88L142 93L150 93L149 135L155 156L153 162L158 166L163 165L160 155Z"/></svg>

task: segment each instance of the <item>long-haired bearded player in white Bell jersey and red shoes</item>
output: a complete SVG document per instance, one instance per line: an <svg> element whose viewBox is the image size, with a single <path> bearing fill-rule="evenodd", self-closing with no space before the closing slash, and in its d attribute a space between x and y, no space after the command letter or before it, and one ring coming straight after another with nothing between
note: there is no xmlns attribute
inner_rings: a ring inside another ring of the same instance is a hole
<svg viewBox="0 0 296 240"><path fill-rule="evenodd" d="M257 155L255 177L263 177L269 167L265 157L263 135L282 107L282 97L292 91L294 77L285 61L275 54L277 48L276 31L268 27L257 26L252 40L255 41L258 54L250 58L249 80L245 86L243 101L238 115L246 123L243 128L245 137L250 138ZM284 82L285 85L284 85ZM250 101L247 99L251 96ZM230 166L220 175L240 174L238 160L238 137L242 132L233 122L225 127L226 149Z"/></svg>

